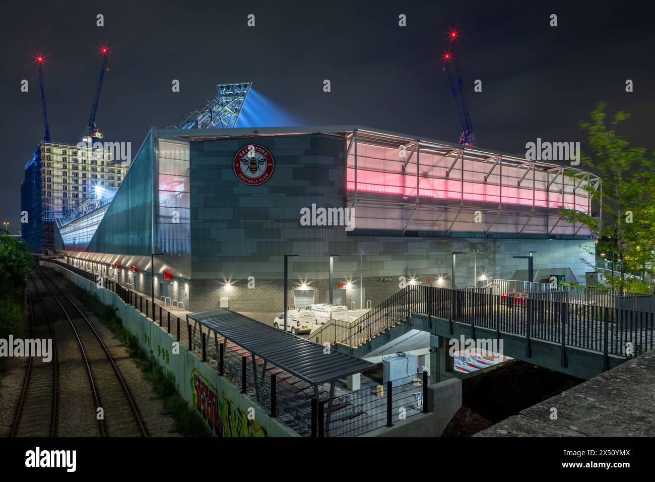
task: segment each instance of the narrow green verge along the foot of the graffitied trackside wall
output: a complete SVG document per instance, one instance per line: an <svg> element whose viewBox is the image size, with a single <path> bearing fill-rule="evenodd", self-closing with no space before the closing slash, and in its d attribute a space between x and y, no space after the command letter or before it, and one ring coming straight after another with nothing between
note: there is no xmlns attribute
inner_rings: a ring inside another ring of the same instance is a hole
<svg viewBox="0 0 655 482"><path fill-rule="evenodd" d="M47 268L48 269L48 268ZM157 395L164 400L166 414L174 420L174 430L187 437L206 437L208 432L202 421L196 416L189 403L183 399L176 389L175 379L170 371L162 368L153 355L141 350L136 336L126 329L112 306L103 304L97 294L92 294L77 287L55 270L48 269L58 281L72 292L82 302L84 307L93 313L127 348L130 358L141 370L143 378L149 380L155 387Z"/></svg>

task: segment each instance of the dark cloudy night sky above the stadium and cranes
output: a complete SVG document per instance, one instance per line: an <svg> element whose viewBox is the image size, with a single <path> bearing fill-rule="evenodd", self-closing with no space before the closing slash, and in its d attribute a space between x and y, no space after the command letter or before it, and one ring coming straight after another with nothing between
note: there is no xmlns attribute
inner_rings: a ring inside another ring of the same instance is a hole
<svg viewBox="0 0 655 482"><path fill-rule="evenodd" d="M525 154L525 143L540 137L584 149L578 121L605 100L610 112L633 115L622 134L653 150L651 4L3 0L1 221L20 229L24 165L44 134L37 53L46 57L48 121L58 142L81 140L102 45L109 71L96 124L104 140L132 142L132 154L149 127L171 125L214 96L216 83L251 80L280 108L261 125L358 124L457 142L461 127L441 70L456 28L478 146ZM254 28L246 25L251 13ZM399 14L407 16L404 28ZM22 79L28 93L20 92ZM180 92L172 92L173 79ZM476 79L482 92L473 91ZM626 92L626 79L634 92Z"/></svg>

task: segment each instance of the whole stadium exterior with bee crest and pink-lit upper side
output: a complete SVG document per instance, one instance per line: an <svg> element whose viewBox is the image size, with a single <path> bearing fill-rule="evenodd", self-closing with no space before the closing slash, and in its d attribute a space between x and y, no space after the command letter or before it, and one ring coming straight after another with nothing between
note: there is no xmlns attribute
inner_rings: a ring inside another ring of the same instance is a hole
<svg viewBox="0 0 655 482"><path fill-rule="evenodd" d="M285 254L290 306L326 302L332 259L333 299L360 308L403 283L527 279L529 254L534 281L584 283L594 239L561 209L599 212L588 189L572 167L365 127L153 127L56 247L146 294L152 270L155 298L194 311L281 311Z"/></svg>

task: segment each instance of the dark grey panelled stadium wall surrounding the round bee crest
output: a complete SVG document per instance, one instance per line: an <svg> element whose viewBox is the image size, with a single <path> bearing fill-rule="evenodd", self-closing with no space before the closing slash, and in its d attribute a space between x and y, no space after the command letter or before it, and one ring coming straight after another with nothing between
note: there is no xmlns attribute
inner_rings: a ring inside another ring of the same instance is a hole
<svg viewBox="0 0 655 482"><path fill-rule="evenodd" d="M312 144L312 138L316 136L322 139ZM219 146L225 140L211 142ZM346 174L343 167L338 167L344 165L343 159L339 159L344 155L343 140L312 134L257 140L242 139L239 140L238 146L248 144L261 144L267 147L272 151L275 159L271 179L261 186L246 186L234 176L231 159L236 150L229 152L229 156L224 151L215 151L226 154L220 158L192 156L191 159L192 167L197 162L202 163L202 169L195 169L191 174L193 192L191 207L194 224L196 226L209 224L214 228L217 224L213 221L222 220L225 223L220 228L215 227L215 231L210 231L217 237L215 242L220 243L221 258L238 256L244 250L244 245L234 242L237 240L228 236L233 228L247 229L247 239L257 243L257 249L262 250L257 252L261 254L278 254L287 251L293 246L293 241L310 239L316 235L326 239L345 239L343 230L339 230L339 233L335 233L333 228L324 231L301 230L299 224L300 209L310 207L312 203L322 207L344 206ZM228 145L230 144L226 144ZM234 146L234 142L231 146ZM308 147L322 151L305 159L304 155ZM331 153L333 157L330 157L329 153L325 155L326 150L329 149L335 150ZM229 165L226 165L228 159ZM303 159L309 161L307 166L304 165ZM216 181L217 178L220 178L220 182ZM222 182L225 184L220 184ZM220 211L223 207L229 207L231 211L224 214ZM247 228L244 224L247 224ZM206 239L207 232L193 229L191 231L192 252L200 260L207 256L216 256L215 247L202 243ZM272 243L274 239L279 240L280 235L284 235L288 242ZM303 248L303 252L307 252L316 249L316 245L304 244Z"/></svg>

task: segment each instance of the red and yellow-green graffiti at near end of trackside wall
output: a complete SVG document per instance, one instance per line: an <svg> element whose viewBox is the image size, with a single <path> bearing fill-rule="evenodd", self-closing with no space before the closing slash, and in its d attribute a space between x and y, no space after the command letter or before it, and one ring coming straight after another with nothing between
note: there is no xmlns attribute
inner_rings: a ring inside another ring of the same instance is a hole
<svg viewBox="0 0 655 482"><path fill-rule="evenodd" d="M191 372L191 392L196 414L217 437L268 437L253 414L242 411L228 399L225 392L218 397L217 390L197 369Z"/></svg>

